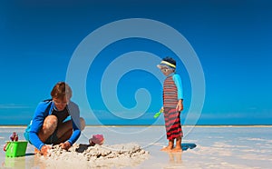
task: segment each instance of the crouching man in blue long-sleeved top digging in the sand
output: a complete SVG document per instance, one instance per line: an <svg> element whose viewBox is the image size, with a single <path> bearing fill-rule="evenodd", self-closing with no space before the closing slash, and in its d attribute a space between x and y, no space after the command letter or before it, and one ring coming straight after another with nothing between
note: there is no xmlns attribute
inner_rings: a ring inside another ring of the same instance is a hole
<svg viewBox="0 0 272 169"><path fill-rule="evenodd" d="M55 84L51 96L52 99L37 105L33 119L24 132L25 139L35 146L34 152L43 155L47 155L51 144L60 144L68 150L85 127L78 105L70 101L72 90L68 84ZM69 116L71 120L67 120Z"/></svg>

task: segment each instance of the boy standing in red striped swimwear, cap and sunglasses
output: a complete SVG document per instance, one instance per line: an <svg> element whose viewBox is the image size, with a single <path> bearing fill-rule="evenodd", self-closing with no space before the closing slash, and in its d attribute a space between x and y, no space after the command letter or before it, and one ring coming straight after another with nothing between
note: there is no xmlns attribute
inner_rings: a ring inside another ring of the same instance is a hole
<svg viewBox="0 0 272 169"><path fill-rule="evenodd" d="M169 144L160 151L180 152L181 137L183 136L180 111L183 110L183 91L180 75L176 73L176 61L171 57L165 57L157 65L166 79L163 83L163 107L164 121ZM176 140L176 146L174 141Z"/></svg>

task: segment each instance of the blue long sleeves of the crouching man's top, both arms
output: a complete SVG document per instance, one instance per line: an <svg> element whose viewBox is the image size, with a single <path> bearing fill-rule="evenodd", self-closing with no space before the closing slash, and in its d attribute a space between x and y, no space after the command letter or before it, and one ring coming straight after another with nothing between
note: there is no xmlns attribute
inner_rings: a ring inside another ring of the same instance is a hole
<svg viewBox="0 0 272 169"><path fill-rule="evenodd" d="M73 134L67 140L72 145L76 142L81 134L80 111L78 105L73 102L70 102L66 106L73 122ZM32 124L29 132L29 141L39 150L41 150L44 143L38 137L38 132L40 131L41 127L43 127L45 117L52 114L53 107L54 104L52 100L43 101L38 104L31 122Z"/></svg>

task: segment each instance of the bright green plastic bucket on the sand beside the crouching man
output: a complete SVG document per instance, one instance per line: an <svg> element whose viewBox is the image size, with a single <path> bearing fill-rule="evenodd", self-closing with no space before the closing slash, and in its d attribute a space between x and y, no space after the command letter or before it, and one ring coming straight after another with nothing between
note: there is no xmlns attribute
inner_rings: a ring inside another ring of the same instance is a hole
<svg viewBox="0 0 272 169"><path fill-rule="evenodd" d="M6 157L24 156L26 147L27 147L26 141L6 142L5 156Z"/></svg>

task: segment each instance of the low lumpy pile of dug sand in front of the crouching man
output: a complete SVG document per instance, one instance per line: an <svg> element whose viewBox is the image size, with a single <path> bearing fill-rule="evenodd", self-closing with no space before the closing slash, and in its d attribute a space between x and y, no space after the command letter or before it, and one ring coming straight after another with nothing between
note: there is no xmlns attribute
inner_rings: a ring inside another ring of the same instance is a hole
<svg viewBox="0 0 272 169"><path fill-rule="evenodd" d="M135 166L148 159L149 152L139 144L94 145L73 144L68 150L54 145L49 154L41 159L47 167L112 167ZM61 162L61 163L58 163ZM64 162L64 163L63 163ZM78 165L80 163L80 165Z"/></svg>

